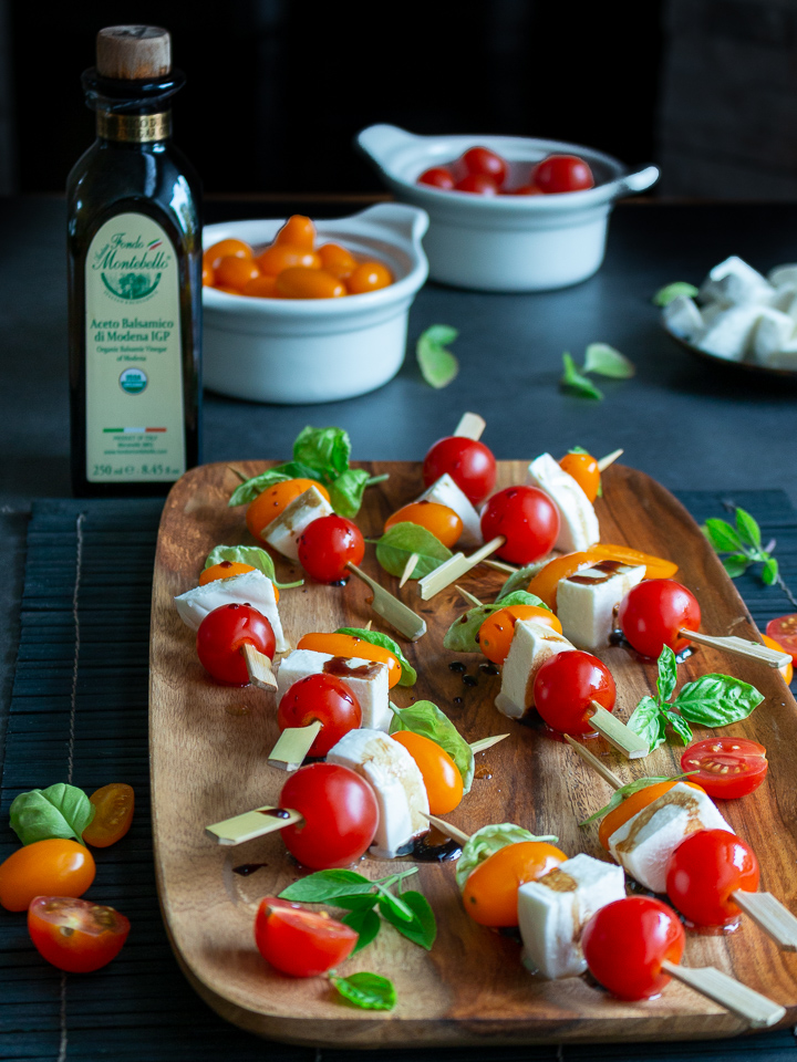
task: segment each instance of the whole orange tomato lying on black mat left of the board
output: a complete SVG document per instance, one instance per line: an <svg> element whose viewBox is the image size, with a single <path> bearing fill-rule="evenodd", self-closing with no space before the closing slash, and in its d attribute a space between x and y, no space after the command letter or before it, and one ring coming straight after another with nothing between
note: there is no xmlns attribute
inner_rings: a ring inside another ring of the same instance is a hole
<svg viewBox="0 0 797 1062"><path fill-rule="evenodd" d="M94 857L84 844L60 837L34 841L0 864L0 904L25 910L35 896L82 896L94 873Z"/></svg>

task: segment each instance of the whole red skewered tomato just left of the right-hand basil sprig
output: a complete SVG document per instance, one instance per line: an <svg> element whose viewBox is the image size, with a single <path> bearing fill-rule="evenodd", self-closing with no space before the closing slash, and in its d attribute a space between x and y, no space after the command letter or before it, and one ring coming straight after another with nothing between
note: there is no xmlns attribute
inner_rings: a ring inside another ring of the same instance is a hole
<svg viewBox="0 0 797 1062"><path fill-rule="evenodd" d="M552 656L535 678L535 707L549 727L561 733L593 733L591 702L614 708L617 687L597 656L575 649Z"/></svg>

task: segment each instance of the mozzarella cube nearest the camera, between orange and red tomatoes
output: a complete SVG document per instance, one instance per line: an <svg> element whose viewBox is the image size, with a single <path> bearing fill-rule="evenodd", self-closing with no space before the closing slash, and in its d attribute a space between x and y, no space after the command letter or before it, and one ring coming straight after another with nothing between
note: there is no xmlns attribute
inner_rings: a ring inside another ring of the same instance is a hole
<svg viewBox="0 0 797 1062"><path fill-rule="evenodd" d="M581 930L592 915L625 897L621 866L579 854L518 891L524 961L544 977L578 977L587 969Z"/></svg>

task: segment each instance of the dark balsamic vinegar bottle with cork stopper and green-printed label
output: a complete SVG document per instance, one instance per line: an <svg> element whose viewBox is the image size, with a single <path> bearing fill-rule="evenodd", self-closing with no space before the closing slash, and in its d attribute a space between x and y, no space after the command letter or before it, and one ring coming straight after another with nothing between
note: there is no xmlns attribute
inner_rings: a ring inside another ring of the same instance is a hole
<svg viewBox="0 0 797 1062"><path fill-rule="evenodd" d="M170 51L158 27L111 27L82 79L97 138L68 183L80 496L166 493L200 459L200 192L172 144Z"/></svg>

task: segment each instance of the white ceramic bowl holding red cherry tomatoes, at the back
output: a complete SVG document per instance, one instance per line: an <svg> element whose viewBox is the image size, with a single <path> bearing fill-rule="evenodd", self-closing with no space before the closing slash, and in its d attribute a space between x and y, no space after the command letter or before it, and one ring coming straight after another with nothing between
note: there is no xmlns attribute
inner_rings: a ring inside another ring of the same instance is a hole
<svg viewBox="0 0 797 1062"><path fill-rule="evenodd" d="M650 188L655 166L630 174L622 163L559 140L519 136L414 136L394 125L372 125L358 144L397 199L429 216L424 250L429 277L477 291L547 291L591 277L605 250L615 199ZM596 186L545 196L478 196L416 184L431 166L443 166L483 145L510 164L510 180L526 184L531 165L552 153L589 163Z"/></svg>

